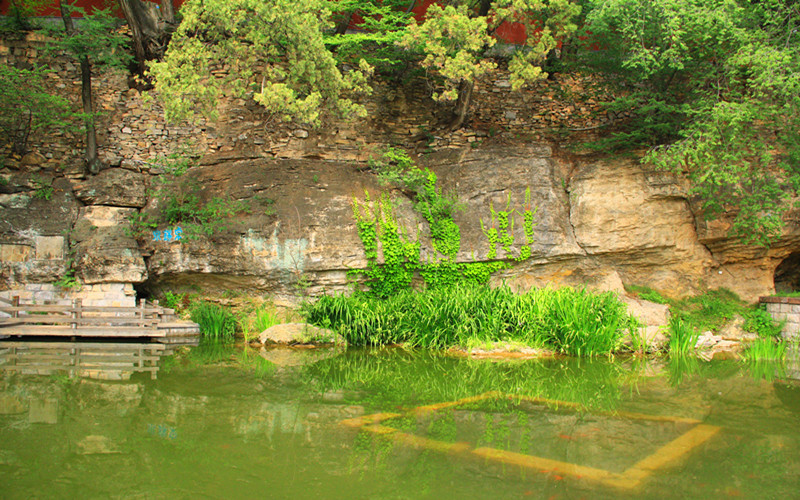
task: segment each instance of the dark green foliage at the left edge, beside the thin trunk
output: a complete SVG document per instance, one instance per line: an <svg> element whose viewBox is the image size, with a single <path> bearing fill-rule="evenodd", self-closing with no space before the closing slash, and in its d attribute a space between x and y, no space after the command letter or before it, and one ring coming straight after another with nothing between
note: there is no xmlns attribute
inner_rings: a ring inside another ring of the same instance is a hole
<svg viewBox="0 0 800 500"><path fill-rule="evenodd" d="M14 154L28 152L31 134L69 126L69 102L48 92L48 73L44 66L0 65L0 135Z"/></svg>

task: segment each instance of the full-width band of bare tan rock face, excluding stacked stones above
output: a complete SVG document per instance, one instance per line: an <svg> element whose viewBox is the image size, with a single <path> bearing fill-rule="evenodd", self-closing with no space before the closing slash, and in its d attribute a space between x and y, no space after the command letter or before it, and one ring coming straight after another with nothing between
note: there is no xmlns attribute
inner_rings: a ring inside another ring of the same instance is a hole
<svg viewBox="0 0 800 500"><path fill-rule="evenodd" d="M636 284L681 296L702 283L755 300L773 291L775 268L800 248L800 234L792 228L769 250L723 236L724 221L709 224L695 216L697 208L680 180L633 159L565 158L550 146L533 144L443 150L418 163L436 172L442 189L462 206L455 215L459 260L488 259L482 225L496 225L493 210L512 214L515 244L508 254L496 248L497 258L512 267L493 279L519 289L553 284L619 292ZM0 247L6 276L17 282L59 276L66 255L57 250L68 243L85 283L292 296L346 290L352 281L348 271L366 265L353 202L367 196L374 201L381 193L394 199L406 234L419 236L423 258L433 253L427 223L407 195L380 185L357 164L233 151L207 156L184 177L182 182L197 186L201 203L228 200L246 210L220 216L214 222L223 227L211 235L191 225L163 224L134 235L129 219L144 204L148 182L142 174L110 169L75 185L78 201L92 205L76 206L67 186L64 194L56 190L57 210L47 205L33 210L42 214L39 222L24 215L43 200L31 196L19 208L7 205L9 222L28 229ZM146 201L143 216L156 218L163 196ZM517 262L525 209L536 212L534 241L531 258ZM50 234L61 225L69 238L40 234L37 224Z"/></svg>

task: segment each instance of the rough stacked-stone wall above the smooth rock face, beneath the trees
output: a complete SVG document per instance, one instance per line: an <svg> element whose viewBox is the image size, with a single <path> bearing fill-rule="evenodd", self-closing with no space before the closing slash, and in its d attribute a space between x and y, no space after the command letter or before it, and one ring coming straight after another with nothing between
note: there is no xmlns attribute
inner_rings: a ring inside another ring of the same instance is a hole
<svg viewBox="0 0 800 500"><path fill-rule="evenodd" d="M0 63L46 64L52 73L51 90L79 108L80 75L68 56L43 52L46 38L29 33L16 40L0 41ZM101 158L111 166L149 170L166 154L190 151L211 154L247 150L268 158L302 158L315 155L335 161L366 161L376 148L390 142L422 138L428 150L476 145L498 134L541 140L557 129L593 129L617 117L600 109L611 96L593 78L554 75L521 91L512 91L508 72L502 69L478 82L471 120L453 134L437 136L431 123L446 115L448 107L435 104L423 80L406 87L375 83L365 99L366 120L334 120L324 129L282 124L252 99L228 99L221 103L220 120L210 123L165 123L157 97L145 102L129 86L128 76L118 72L93 73L95 109L100 113L98 145ZM42 168L58 167L66 175L80 176L82 137L75 131L55 136L34 136L30 149L46 161Z"/></svg>

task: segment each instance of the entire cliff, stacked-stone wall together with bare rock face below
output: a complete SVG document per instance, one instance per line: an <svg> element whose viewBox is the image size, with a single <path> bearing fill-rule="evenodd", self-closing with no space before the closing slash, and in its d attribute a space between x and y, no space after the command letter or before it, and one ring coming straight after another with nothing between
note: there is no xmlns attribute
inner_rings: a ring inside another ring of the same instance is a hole
<svg viewBox="0 0 800 500"><path fill-rule="evenodd" d="M10 61L30 54L19 50L0 55ZM69 66L55 61L53 67L53 84L70 90ZM725 219L702 218L683 179L634 156L559 150L544 138L549 127L593 129L614 118L569 76L513 93L502 74L491 75L476 88L468 128L439 136L425 129L436 107L413 85L378 86L368 120L311 130L276 124L241 100L226 104L220 123L167 125L120 75L97 81L105 113L100 146L109 168L87 178L71 132L51 142L34 137L37 153L0 167L2 288L52 283L72 269L88 286L125 283L149 292L297 296L346 289L348 271L366 265L352 202L391 191L367 161L388 144L416 151L418 164L457 196L462 261L487 258L481 222L490 220L490 207L522 211L529 190L537 210L532 256L517 262L513 252L499 250L497 258L512 265L495 282L617 291L635 284L674 296L727 287L754 300L774 291L776 268L800 251L795 212L770 249L742 245L728 237ZM559 101L561 94L571 100ZM165 183L161 160L187 140L199 160L180 184ZM165 222L131 225L153 220L165 193L187 186L200 204L226 200L243 208L232 216L214 213L219 220L212 222L224 224L211 234L178 233L179 225ZM392 197L405 231L419 235L429 255L427 224L401 191ZM514 233L523 240L521 224Z"/></svg>

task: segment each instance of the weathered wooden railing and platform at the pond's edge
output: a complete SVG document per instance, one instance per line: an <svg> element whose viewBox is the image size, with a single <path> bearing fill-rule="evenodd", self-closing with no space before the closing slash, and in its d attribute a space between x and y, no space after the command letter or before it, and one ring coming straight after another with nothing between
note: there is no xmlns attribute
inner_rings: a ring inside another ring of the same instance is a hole
<svg viewBox="0 0 800 500"><path fill-rule="evenodd" d="M162 337L158 325L174 314L172 309L142 299L139 307L20 304L19 297L3 300L0 335L53 335L91 337Z"/></svg>

